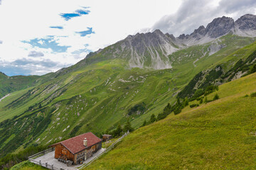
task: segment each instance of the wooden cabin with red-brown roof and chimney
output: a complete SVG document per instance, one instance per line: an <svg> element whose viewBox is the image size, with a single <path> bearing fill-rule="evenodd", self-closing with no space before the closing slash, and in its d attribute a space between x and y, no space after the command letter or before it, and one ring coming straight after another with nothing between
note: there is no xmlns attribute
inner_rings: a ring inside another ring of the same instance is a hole
<svg viewBox="0 0 256 170"><path fill-rule="evenodd" d="M50 145L55 147L55 159L61 162L82 164L92 154L102 148L102 140L92 132L87 132L68 140Z"/></svg>

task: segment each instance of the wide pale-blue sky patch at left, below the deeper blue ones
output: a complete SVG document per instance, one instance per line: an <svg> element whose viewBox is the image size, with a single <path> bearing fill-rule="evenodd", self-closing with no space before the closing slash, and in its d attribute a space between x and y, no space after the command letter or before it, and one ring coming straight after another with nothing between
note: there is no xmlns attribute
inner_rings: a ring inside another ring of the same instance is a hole
<svg viewBox="0 0 256 170"><path fill-rule="evenodd" d="M71 47L58 45L58 42L54 40L53 36L48 36L48 38L35 38L33 40L22 42L31 44L33 47L50 48L53 52L66 52L68 47Z"/></svg>

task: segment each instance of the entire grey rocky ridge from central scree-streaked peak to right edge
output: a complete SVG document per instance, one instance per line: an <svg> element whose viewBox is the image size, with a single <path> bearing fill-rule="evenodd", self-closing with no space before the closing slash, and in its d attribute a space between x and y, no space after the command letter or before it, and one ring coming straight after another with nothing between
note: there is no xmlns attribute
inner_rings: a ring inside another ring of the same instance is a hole
<svg viewBox="0 0 256 170"><path fill-rule="evenodd" d="M170 69L173 61L169 55L192 45L201 45L212 42L208 55L226 47L216 39L232 33L243 37L256 37L256 16L246 14L234 21L233 18L215 18L206 28L200 26L190 35L174 35L154 30L152 33L137 33L128 35L114 45L92 52L85 60L99 61L105 59L122 58L128 62L129 67ZM99 57L100 56L100 57Z"/></svg>

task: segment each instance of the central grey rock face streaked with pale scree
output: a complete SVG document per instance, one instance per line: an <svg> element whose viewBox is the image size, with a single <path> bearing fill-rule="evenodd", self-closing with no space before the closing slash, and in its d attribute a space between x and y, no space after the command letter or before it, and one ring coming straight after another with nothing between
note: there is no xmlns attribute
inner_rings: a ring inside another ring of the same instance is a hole
<svg viewBox="0 0 256 170"><path fill-rule="evenodd" d="M169 69L171 62L167 57L178 50L178 42L174 35L164 34L161 30L153 33L137 33L129 35L118 42L119 55L129 61L130 67L149 67L153 69Z"/></svg>

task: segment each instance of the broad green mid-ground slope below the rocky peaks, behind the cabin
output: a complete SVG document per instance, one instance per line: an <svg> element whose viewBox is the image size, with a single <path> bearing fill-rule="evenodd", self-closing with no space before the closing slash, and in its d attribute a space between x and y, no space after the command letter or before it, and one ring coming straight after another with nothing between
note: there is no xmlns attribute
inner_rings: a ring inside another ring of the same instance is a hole
<svg viewBox="0 0 256 170"><path fill-rule="evenodd" d="M173 69L130 69L125 60L108 60L108 56L45 75L39 80L43 84L16 91L0 102L0 157L87 131L113 130L127 118L138 128L151 114L163 111L166 103L174 103L178 91L198 72L252 41L226 35L219 41L225 48L203 57L200 51L207 51L210 43L189 47L170 56L175 59ZM128 114L137 105L143 106L143 111Z"/></svg>

